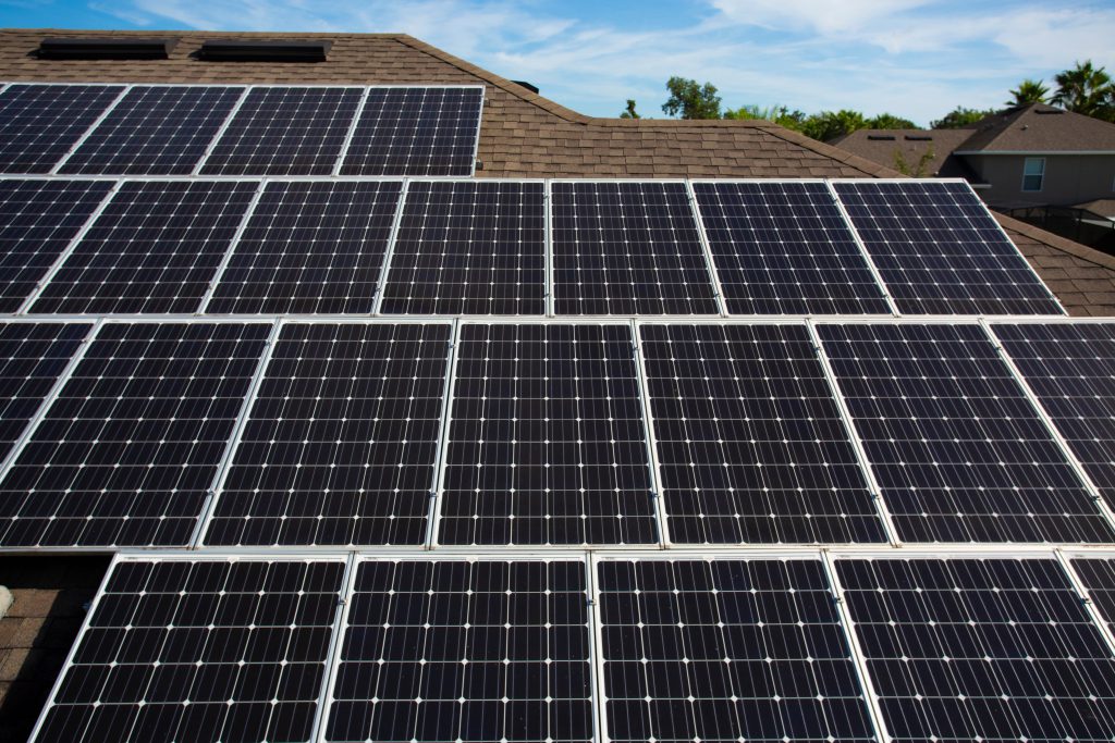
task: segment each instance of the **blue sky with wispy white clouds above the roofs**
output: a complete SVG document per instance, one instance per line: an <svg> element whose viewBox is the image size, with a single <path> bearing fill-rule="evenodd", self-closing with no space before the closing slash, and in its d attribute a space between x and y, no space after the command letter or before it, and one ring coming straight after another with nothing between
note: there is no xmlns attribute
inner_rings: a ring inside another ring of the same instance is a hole
<svg viewBox="0 0 1115 743"><path fill-rule="evenodd" d="M405 31L585 114L662 116L671 75L726 106L890 111L927 124L1025 77L1115 71L1115 1L0 0L6 27Z"/></svg>

